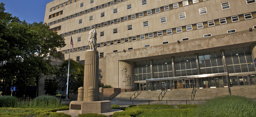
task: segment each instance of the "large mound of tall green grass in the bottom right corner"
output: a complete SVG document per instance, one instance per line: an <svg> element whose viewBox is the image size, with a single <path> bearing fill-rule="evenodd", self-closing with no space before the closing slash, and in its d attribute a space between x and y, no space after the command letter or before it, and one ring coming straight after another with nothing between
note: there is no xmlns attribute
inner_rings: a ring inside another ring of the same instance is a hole
<svg viewBox="0 0 256 117"><path fill-rule="evenodd" d="M217 97L196 108L199 117L255 117L256 102L241 96Z"/></svg>

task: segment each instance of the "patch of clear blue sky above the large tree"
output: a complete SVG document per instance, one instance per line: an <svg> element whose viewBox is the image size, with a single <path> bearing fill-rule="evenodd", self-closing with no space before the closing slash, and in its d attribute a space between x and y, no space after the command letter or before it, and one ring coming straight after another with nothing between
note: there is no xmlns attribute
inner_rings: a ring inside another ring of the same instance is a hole
<svg viewBox="0 0 256 117"><path fill-rule="evenodd" d="M46 4L51 1L53 0L0 0L5 4L5 12L28 23L43 22Z"/></svg>

